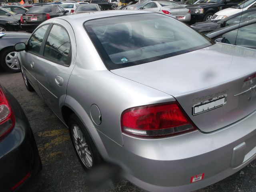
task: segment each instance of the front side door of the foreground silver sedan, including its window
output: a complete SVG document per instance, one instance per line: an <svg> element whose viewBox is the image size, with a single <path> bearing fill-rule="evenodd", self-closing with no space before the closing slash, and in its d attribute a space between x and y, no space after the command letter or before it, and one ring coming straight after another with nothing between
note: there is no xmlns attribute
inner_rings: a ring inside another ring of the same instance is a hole
<svg viewBox="0 0 256 192"><path fill-rule="evenodd" d="M24 71L27 80L31 86L42 97L38 83L36 81L36 70L38 70L38 58L40 58L40 51L42 49L42 42L50 24L45 24L38 28L26 44L26 50L20 52L20 60L22 63L22 70Z"/></svg>

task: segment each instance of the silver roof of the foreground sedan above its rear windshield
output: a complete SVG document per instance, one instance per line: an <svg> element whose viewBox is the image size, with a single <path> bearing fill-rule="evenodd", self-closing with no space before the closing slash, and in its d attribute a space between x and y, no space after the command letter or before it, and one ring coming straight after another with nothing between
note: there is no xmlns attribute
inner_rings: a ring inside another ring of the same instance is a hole
<svg viewBox="0 0 256 192"><path fill-rule="evenodd" d="M122 16L122 15L133 15L133 14L145 14L145 13L158 14L155 12L142 11L142 10L108 10L108 11L96 11L96 12L67 15L65 17L55 18L55 19L66 20L70 23L72 22L84 23L88 20L99 19L99 18Z"/></svg>

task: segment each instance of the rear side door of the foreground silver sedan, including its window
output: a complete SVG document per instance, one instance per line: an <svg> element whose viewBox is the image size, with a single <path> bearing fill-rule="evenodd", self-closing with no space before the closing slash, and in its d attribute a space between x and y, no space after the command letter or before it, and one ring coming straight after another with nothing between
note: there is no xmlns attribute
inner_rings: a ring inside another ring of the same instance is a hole
<svg viewBox="0 0 256 192"><path fill-rule="evenodd" d="M49 30L38 58L37 81L46 104L61 116L70 74L76 59L76 42L70 24L56 19Z"/></svg>

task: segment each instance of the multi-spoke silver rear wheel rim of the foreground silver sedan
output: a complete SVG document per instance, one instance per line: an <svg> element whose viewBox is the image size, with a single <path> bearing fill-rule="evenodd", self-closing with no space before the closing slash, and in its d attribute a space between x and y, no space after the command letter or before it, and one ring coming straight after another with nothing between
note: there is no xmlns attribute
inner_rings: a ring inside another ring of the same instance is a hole
<svg viewBox="0 0 256 192"><path fill-rule="evenodd" d="M86 143L83 132L77 125L72 125L72 137L75 144L76 152L82 160L84 166L92 167L92 154Z"/></svg>

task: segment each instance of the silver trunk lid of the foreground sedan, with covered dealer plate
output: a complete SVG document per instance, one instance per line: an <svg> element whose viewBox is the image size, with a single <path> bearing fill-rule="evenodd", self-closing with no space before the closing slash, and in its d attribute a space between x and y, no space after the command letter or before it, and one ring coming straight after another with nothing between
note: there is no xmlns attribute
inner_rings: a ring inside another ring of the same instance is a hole
<svg viewBox="0 0 256 192"><path fill-rule="evenodd" d="M255 50L214 44L112 72L172 95L200 130L211 132L256 109L255 59Z"/></svg>

